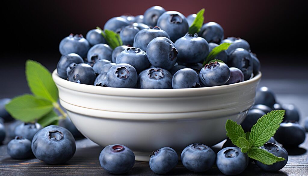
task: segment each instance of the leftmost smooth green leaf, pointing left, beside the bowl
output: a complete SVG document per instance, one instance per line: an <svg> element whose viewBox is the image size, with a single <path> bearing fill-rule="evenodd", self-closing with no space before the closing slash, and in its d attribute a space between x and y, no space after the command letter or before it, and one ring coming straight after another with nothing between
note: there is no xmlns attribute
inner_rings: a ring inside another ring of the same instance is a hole
<svg viewBox="0 0 308 176"><path fill-rule="evenodd" d="M31 122L49 113L53 105L49 100L25 94L12 99L5 108L15 119Z"/></svg>

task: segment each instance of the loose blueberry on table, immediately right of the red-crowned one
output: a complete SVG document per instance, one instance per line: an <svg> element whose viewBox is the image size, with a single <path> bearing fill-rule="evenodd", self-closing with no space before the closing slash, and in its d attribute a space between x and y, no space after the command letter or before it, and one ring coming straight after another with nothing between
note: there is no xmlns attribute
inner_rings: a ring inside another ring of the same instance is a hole
<svg viewBox="0 0 308 176"><path fill-rule="evenodd" d="M176 166L177 162L176 151L170 147L163 147L153 152L149 164L156 174L166 174Z"/></svg>

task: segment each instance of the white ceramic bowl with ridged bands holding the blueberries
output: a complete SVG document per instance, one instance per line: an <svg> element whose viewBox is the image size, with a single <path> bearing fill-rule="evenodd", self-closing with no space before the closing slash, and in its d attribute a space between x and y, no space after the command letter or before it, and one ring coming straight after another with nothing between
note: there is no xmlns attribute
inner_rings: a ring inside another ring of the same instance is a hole
<svg viewBox="0 0 308 176"><path fill-rule="evenodd" d="M126 145L137 161L172 147L214 145L226 138L227 119L241 123L253 105L261 72L241 83L186 89L108 88L60 78L61 105L79 131L101 146Z"/></svg>

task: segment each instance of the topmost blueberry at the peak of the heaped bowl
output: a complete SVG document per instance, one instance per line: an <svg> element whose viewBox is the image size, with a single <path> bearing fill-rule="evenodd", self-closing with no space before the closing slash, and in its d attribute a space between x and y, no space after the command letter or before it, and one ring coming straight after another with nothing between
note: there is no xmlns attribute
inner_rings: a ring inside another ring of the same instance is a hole
<svg viewBox="0 0 308 176"><path fill-rule="evenodd" d="M161 6L152 6L152 7L148 8L144 12L143 23L148 25L148 26L150 26L150 27L156 26L158 18L165 11L166 10L163 7L161 7Z"/></svg>

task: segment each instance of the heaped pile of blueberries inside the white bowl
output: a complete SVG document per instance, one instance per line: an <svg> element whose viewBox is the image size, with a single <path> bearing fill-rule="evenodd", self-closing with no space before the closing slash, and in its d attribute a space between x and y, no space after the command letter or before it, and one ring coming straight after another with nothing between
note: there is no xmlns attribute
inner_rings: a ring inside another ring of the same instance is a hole
<svg viewBox="0 0 308 176"><path fill-rule="evenodd" d="M187 18L177 11L153 6L144 15L109 19L104 30L119 33L122 46L112 49L101 30L62 39L58 75L72 82L115 88L195 88L234 84L249 80L260 69L249 43L224 39L215 22L189 34L196 14ZM231 43L203 66L205 58L221 43Z"/></svg>

